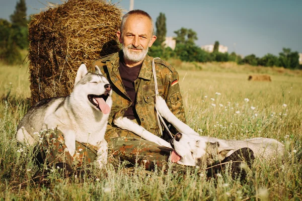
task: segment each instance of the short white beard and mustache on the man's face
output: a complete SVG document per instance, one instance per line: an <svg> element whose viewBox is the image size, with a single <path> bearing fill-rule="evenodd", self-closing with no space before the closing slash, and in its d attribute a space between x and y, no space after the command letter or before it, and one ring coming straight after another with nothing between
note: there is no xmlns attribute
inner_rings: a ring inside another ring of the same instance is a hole
<svg viewBox="0 0 302 201"><path fill-rule="evenodd" d="M137 50L142 50L141 52L132 52L129 49L137 49ZM138 46L134 47L132 44L128 46L123 45L123 53L124 53L124 59L132 62L139 62L144 59L148 52L148 47L147 49L143 49L143 47Z"/></svg>

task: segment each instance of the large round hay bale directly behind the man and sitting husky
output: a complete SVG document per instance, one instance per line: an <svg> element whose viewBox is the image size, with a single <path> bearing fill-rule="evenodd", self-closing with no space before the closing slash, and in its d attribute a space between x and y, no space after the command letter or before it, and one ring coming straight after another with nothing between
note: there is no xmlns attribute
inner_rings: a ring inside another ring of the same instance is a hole
<svg viewBox="0 0 302 201"><path fill-rule="evenodd" d="M104 0L69 0L31 16L32 103L68 95L81 63L92 67L95 59L117 52L121 16L121 9Z"/></svg>

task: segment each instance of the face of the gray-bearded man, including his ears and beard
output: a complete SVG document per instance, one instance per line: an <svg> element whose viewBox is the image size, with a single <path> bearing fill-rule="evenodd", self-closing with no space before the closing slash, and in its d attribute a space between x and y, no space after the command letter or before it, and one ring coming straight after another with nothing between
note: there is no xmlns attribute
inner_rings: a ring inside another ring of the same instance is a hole
<svg viewBox="0 0 302 201"><path fill-rule="evenodd" d="M124 58L131 62L142 61L156 40L153 35L150 20L145 16L132 15L125 22L122 33L117 32L117 37L122 43Z"/></svg>

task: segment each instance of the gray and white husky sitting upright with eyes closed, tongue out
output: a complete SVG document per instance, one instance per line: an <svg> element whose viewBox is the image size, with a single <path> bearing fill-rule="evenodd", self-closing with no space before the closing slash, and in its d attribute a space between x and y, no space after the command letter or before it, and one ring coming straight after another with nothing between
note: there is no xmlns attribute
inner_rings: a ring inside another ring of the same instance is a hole
<svg viewBox="0 0 302 201"><path fill-rule="evenodd" d="M101 168L107 163L104 135L112 106L111 94L111 85L99 67L95 66L95 73L90 73L82 64L70 95L41 100L28 110L18 125L17 140L33 145L39 140L36 132L57 128L63 133L71 156L75 141L97 146Z"/></svg>

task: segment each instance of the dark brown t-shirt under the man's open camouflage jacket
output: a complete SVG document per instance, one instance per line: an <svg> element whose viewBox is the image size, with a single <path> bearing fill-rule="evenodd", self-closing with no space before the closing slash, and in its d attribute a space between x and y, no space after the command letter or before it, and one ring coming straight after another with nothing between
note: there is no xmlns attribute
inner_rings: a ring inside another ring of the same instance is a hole
<svg viewBox="0 0 302 201"><path fill-rule="evenodd" d="M125 86L126 92L130 99L132 100L132 105L126 110L124 117L127 117L130 120L137 118L137 113L135 111L135 98L136 92L134 89L134 81L137 79L141 64L133 67L128 67L123 61L119 61L119 72Z"/></svg>

